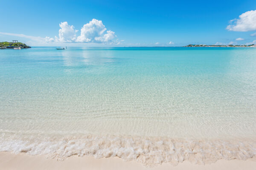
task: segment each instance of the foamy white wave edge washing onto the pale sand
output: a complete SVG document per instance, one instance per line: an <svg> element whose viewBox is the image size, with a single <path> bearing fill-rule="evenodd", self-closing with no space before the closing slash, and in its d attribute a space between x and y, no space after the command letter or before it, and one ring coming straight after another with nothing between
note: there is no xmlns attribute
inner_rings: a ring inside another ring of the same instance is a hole
<svg viewBox="0 0 256 170"><path fill-rule="evenodd" d="M0 140L0 151L47 155L64 160L69 156L94 156L96 159L119 157L135 160L147 167L183 161L209 164L218 159L251 159L256 156L254 140L184 140L168 137L93 136L63 137L58 139L31 138L29 140Z"/></svg>

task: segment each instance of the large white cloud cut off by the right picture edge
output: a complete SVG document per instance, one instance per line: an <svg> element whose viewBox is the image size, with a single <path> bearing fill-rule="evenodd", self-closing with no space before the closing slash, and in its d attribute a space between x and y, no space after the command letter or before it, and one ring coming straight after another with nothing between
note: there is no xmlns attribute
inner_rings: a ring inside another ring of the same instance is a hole
<svg viewBox="0 0 256 170"><path fill-rule="evenodd" d="M230 25L226 29L243 32L256 30L256 10L244 12L239 19L230 20Z"/></svg>

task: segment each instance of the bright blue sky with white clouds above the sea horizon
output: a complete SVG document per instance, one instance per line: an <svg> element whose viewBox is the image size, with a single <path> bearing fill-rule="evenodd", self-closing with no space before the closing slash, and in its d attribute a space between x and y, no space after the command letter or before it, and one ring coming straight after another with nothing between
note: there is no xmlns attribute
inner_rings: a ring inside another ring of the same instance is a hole
<svg viewBox="0 0 256 170"><path fill-rule="evenodd" d="M12 0L0 42L30 46L256 44L256 0Z"/></svg>

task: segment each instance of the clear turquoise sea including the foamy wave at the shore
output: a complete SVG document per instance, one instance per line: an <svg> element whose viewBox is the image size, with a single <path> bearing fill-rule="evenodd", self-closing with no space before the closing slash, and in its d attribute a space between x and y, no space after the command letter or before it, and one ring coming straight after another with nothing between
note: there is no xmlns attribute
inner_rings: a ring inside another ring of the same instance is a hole
<svg viewBox="0 0 256 170"><path fill-rule="evenodd" d="M148 166L248 159L256 48L0 50L0 108L0 151Z"/></svg>

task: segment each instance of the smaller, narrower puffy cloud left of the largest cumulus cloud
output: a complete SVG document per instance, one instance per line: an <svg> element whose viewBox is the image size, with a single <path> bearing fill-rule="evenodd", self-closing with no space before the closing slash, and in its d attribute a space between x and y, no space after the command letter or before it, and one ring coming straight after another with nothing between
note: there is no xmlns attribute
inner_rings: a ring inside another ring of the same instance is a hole
<svg viewBox="0 0 256 170"><path fill-rule="evenodd" d="M55 36L55 40L58 42L73 42L76 40L76 32L74 26L69 26L67 22L60 23L59 37Z"/></svg>

